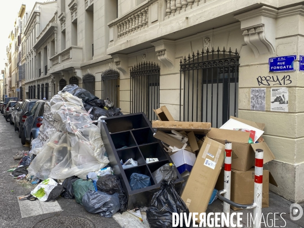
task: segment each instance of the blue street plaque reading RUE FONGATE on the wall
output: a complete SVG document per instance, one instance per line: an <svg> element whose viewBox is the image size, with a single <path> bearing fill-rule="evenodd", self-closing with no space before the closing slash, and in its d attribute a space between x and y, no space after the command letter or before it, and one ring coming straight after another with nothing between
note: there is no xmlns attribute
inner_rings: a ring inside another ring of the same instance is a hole
<svg viewBox="0 0 304 228"><path fill-rule="evenodd" d="M296 55L269 58L269 72L295 71L293 65L295 59Z"/></svg>

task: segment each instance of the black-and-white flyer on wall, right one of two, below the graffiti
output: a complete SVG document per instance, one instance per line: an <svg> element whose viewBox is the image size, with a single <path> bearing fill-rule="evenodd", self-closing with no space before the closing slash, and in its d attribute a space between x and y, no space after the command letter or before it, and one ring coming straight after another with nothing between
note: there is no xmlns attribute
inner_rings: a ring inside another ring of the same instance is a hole
<svg viewBox="0 0 304 228"><path fill-rule="evenodd" d="M288 111L288 89L271 88L271 111Z"/></svg>

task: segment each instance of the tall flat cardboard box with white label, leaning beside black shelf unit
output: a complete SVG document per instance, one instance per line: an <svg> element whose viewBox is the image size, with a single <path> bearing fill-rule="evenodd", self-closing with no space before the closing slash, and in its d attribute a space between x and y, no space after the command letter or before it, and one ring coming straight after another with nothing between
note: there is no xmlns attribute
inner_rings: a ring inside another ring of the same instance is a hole
<svg viewBox="0 0 304 228"><path fill-rule="evenodd" d="M181 195L190 212L206 212L224 162L224 150L223 144L205 138Z"/></svg>

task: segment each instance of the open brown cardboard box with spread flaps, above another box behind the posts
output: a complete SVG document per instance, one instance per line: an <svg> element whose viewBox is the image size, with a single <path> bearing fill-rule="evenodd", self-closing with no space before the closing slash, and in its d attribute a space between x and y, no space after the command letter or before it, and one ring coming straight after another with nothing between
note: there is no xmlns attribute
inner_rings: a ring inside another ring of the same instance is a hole
<svg viewBox="0 0 304 228"><path fill-rule="evenodd" d="M264 164L275 159L266 142L249 144L249 135L249 132L212 128L207 137L223 144L225 140L232 142L232 150L238 157L232 162L232 169L247 171L254 166L254 149L262 149L264 151Z"/></svg>

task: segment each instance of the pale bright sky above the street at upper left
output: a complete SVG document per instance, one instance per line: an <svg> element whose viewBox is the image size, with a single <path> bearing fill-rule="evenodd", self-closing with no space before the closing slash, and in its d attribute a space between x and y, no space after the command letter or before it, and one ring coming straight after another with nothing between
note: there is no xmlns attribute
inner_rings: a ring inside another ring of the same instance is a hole
<svg viewBox="0 0 304 228"><path fill-rule="evenodd" d="M25 5L26 11L31 11L34 7L35 0L0 0L1 20L0 30L2 35L0 36L0 72L5 68L6 62L6 47L9 44L9 34L14 28L15 19L18 17L18 12L22 4ZM47 0L37 1L47 2Z"/></svg>

